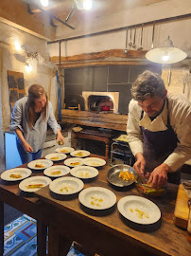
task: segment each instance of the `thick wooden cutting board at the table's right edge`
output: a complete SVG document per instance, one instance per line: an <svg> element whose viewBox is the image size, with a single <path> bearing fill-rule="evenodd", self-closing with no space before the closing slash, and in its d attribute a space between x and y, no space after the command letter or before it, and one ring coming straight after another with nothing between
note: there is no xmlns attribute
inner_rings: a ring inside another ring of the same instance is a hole
<svg viewBox="0 0 191 256"><path fill-rule="evenodd" d="M188 222L188 196L185 193L182 184L179 185L179 190L177 193L177 200L174 211L174 224L182 229L187 229Z"/></svg>

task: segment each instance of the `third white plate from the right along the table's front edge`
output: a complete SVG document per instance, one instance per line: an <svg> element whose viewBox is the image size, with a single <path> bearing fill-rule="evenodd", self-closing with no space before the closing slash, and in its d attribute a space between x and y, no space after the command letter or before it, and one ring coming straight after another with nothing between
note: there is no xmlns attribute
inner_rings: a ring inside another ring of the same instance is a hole
<svg viewBox="0 0 191 256"><path fill-rule="evenodd" d="M61 177L50 183L50 190L58 194L73 194L83 189L83 182L76 177Z"/></svg>

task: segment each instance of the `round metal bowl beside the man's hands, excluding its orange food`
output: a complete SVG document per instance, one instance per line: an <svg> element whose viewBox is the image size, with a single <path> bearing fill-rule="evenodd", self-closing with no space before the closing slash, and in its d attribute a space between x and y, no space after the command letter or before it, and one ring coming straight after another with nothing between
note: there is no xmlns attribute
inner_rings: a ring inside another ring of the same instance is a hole
<svg viewBox="0 0 191 256"><path fill-rule="evenodd" d="M130 186L135 180L123 180L119 177L120 172L130 172L133 174L134 179L136 180L137 174L130 165L118 164L114 165L108 172L107 178L108 181L116 187L126 187Z"/></svg>

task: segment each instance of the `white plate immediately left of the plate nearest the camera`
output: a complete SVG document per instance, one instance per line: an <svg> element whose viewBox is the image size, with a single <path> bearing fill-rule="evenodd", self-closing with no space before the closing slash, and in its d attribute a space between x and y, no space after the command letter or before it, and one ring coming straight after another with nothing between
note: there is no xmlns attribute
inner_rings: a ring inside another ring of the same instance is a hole
<svg viewBox="0 0 191 256"><path fill-rule="evenodd" d="M78 195L79 202L87 208L94 210L105 210L113 207L116 196L108 189L92 187L83 190Z"/></svg>

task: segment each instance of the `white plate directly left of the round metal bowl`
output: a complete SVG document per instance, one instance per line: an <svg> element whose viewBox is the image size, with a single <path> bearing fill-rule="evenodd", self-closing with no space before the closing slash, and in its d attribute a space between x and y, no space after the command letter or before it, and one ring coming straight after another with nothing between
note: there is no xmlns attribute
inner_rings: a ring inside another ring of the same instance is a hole
<svg viewBox="0 0 191 256"><path fill-rule="evenodd" d="M70 170L70 174L78 178L87 179L96 177L98 175L98 171L96 168L91 166L78 166Z"/></svg>

